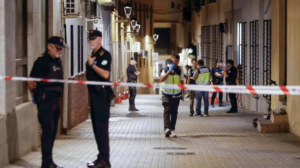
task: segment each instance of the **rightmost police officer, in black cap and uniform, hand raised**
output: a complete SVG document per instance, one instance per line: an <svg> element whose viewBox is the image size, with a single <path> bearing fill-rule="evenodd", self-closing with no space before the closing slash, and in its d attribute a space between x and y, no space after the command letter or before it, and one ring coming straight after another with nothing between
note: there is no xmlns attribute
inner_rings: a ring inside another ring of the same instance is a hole
<svg viewBox="0 0 300 168"><path fill-rule="evenodd" d="M234 66L234 61L231 59L228 59L226 62L226 65L228 66L228 69L226 68L225 64L223 64L223 68L226 69L225 72L223 72L223 75L226 77L226 85L236 85L236 77L238 75L238 69ZM235 93L228 93L231 108L226 113L236 113L238 112L238 105L236 103L236 94Z"/></svg>

